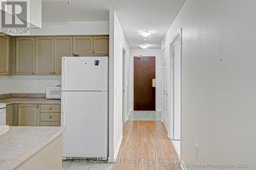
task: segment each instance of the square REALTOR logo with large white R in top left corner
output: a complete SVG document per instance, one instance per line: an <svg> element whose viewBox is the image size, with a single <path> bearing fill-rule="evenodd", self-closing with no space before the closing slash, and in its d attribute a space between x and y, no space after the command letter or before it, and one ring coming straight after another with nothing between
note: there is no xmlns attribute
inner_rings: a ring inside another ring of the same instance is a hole
<svg viewBox="0 0 256 170"><path fill-rule="evenodd" d="M2 28L27 28L27 2L2 2Z"/></svg>

